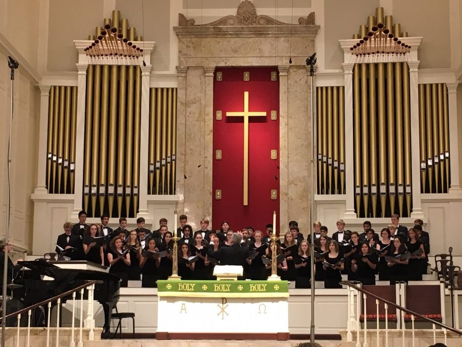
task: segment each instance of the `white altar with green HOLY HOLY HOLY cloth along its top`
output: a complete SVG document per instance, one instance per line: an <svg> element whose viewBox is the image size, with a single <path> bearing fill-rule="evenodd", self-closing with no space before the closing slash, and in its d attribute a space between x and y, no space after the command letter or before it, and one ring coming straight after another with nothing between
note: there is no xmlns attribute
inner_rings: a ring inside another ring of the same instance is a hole
<svg viewBox="0 0 462 347"><path fill-rule="evenodd" d="M157 339L287 340L286 281L158 281Z"/></svg>

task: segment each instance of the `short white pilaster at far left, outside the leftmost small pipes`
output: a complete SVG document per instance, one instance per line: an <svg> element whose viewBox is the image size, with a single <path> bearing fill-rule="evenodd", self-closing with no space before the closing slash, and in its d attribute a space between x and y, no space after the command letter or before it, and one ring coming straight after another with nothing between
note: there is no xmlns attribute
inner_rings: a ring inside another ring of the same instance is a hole
<svg viewBox="0 0 462 347"><path fill-rule="evenodd" d="M35 194L47 194L47 140L48 140L48 99L50 86L40 85L40 123L38 125L38 163L37 163L37 187Z"/></svg>

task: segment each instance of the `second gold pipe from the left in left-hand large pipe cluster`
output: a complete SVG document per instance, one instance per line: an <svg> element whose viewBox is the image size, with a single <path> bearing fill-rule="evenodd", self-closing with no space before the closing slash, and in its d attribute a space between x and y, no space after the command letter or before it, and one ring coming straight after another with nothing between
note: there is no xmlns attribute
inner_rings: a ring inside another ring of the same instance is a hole
<svg viewBox="0 0 462 347"><path fill-rule="evenodd" d="M96 210L98 197L98 169L99 169L99 154L100 154L100 101L101 101L101 65L95 65L93 78L93 129L92 129L92 157L91 157L91 211L92 216Z"/></svg>

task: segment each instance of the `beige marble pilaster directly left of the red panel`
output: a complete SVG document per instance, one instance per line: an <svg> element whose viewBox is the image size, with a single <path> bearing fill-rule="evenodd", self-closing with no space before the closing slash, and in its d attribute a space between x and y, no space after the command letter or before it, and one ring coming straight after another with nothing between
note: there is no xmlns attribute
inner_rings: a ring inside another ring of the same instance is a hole
<svg viewBox="0 0 462 347"><path fill-rule="evenodd" d="M214 128L214 72L215 66L205 66L205 117L204 117L204 216L211 216L213 193L213 128Z"/></svg>

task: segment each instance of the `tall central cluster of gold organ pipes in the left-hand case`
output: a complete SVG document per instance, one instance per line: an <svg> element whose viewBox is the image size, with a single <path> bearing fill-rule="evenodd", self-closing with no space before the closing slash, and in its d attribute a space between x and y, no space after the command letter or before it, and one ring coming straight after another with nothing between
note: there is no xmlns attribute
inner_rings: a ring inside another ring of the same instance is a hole
<svg viewBox="0 0 462 347"><path fill-rule="evenodd" d="M89 65L83 176L89 216L136 215L140 126L140 67Z"/></svg>

